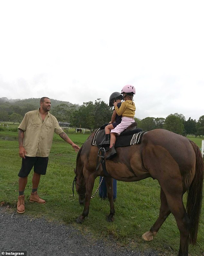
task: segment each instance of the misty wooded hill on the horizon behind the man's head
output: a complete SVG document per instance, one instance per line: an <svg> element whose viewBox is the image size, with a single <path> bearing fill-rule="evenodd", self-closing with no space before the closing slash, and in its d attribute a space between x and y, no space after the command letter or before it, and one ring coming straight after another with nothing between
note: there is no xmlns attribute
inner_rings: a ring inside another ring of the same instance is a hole
<svg viewBox="0 0 204 256"><path fill-rule="evenodd" d="M33 105L35 107L35 109L38 109L40 107L40 98L30 98L30 99L23 99L23 100L8 99L6 97L0 98L0 104L6 103L6 102L8 102L10 104L19 105L19 106L21 106L22 104L30 104L30 105ZM69 101L58 101L58 100L51 99L51 106L52 107L55 107L55 106L60 105L60 104L66 104L69 107L74 107L76 109L79 109L79 107L80 107L79 104L72 104Z"/></svg>

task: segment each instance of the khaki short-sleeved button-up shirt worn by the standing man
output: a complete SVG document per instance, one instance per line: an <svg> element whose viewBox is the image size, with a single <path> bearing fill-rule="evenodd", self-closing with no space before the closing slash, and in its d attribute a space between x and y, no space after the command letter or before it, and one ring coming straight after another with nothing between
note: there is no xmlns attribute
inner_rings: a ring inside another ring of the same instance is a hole
<svg viewBox="0 0 204 256"><path fill-rule="evenodd" d="M39 109L27 112L18 128L24 131L26 156L49 156L54 133L63 133L56 117L47 112L42 121Z"/></svg>

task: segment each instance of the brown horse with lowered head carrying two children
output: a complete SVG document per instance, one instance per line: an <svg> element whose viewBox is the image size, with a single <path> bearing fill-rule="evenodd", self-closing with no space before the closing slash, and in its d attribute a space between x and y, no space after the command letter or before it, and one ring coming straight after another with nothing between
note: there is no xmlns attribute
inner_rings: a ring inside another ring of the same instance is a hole
<svg viewBox="0 0 204 256"><path fill-rule="evenodd" d="M96 170L98 148L92 146L94 134L82 145L75 169L79 203L84 204L77 222L88 216L90 198L97 176L105 176L102 167ZM140 144L116 148L117 155L106 161L108 174L121 181L138 181L147 177L157 179L160 186L160 213L144 240L153 240L162 223L172 212L180 231L179 256L188 256L189 241L197 240L202 204L203 159L199 147L188 138L163 129L144 133ZM108 221L113 221L115 209L111 177L106 178L110 201ZM183 194L188 191L186 209Z"/></svg>

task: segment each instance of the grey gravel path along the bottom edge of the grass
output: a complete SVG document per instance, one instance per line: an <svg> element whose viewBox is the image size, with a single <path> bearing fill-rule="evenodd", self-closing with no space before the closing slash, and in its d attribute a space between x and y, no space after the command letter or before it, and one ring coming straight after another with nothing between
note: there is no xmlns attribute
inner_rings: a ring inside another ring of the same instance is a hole
<svg viewBox="0 0 204 256"><path fill-rule="evenodd" d="M71 225L32 219L24 214L0 207L1 251L27 251L27 256L158 256L155 251L145 253L118 247L104 240L93 241Z"/></svg>

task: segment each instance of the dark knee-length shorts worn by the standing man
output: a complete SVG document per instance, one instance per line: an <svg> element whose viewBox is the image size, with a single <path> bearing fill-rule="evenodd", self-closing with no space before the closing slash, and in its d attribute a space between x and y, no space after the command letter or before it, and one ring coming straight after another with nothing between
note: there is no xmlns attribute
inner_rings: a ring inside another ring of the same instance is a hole
<svg viewBox="0 0 204 256"><path fill-rule="evenodd" d="M26 156L22 158L22 165L20 172L18 174L19 177L26 177L32 170L34 166L34 172L37 174L45 175L48 165L48 157L40 157L40 156Z"/></svg>

